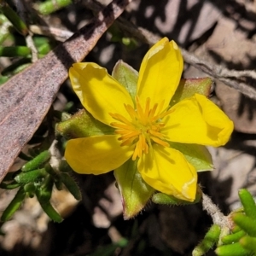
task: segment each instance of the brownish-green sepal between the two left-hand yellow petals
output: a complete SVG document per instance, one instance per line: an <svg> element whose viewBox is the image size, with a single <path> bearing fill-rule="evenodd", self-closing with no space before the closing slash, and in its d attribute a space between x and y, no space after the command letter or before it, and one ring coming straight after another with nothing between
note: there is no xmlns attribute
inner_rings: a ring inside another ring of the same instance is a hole
<svg viewBox="0 0 256 256"><path fill-rule="evenodd" d="M56 131L67 139L113 134L114 129L93 118L85 109L56 125Z"/></svg>

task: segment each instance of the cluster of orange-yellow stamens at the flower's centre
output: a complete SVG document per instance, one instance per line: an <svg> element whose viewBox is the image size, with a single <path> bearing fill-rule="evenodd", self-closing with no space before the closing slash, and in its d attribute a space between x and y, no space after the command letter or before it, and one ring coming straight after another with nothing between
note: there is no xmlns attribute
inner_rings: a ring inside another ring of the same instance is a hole
<svg viewBox="0 0 256 256"><path fill-rule="evenodd" d="M143 109L138 97L136 97L136 104L136 109L132 108L131 105L124 104L130 120L119 113L109 113L113 119L119 121L110 125L116 128L115 133L120 135L121 146L136 144L132 160L141 157L143 153L148 154L148 149L152 148L152 143L169 147L169 143L165 141L165 135L161 133L161 129L165 126L161 119L172 112L170 109L162 110L164 101L160 105L156 103L153 108L150 108L150 99L147 98L146 106Z"/></svg>

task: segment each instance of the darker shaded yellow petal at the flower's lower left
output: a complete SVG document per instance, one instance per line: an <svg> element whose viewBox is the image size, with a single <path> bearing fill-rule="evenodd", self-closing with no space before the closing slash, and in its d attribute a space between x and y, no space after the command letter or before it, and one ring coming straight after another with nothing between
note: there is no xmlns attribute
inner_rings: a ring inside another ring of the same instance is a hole
<svg viewBox="0 0 256 256"><path fill-rule="evenodd" d="M131 158L133 148L120 146L118 135L83 137L67 142L65 158L75 172L102 174L110 172Z"/></svg>

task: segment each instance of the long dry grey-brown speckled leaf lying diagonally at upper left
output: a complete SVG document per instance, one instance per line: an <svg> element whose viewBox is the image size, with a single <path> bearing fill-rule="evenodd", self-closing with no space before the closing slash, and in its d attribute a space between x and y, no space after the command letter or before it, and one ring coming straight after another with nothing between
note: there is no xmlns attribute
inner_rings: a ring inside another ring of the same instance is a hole
<svg viewBox="0 0 256 256"><path fill-rule="evenodd" d="M68 68L84 59L130 2L110 3L90 24L0 89L0 182L44 119Z"/></svg>

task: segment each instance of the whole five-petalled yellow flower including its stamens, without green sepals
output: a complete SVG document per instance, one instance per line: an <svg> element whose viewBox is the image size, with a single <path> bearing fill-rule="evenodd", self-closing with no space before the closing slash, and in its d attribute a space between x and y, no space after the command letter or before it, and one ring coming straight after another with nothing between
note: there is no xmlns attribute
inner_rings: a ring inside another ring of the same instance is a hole
<svg viewBox="0 0 256 256"><path fill-rule="evenodd" d="M227 143L233 123L206 96L195 94L169 103L183 72L175 42L163 38L144 56L137 96L95 63L76 63L69 76L73 90L92 116L115 129L113 135L67 142L65 157L75 172L102 174L125 161L137 160L143 180L178 199L194 201L195 167L169 142L220 146Z"/></svg>

